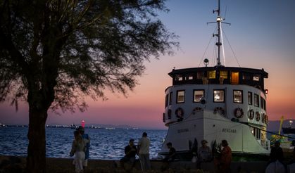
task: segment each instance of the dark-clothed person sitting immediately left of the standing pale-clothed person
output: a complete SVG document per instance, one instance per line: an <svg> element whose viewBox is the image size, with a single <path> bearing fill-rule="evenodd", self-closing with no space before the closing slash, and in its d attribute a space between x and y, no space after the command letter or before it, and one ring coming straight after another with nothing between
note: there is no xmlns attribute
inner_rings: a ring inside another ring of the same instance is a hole
<svg viewBox="0 0 295 173"><path fill-rule="evenodd" d="M137 155L137 148L134 146L134 139L129 140L129 145L125 147L125 156L120 159L121 167L124 167L125 162L131 162L132 167L135 163L135 155Z"/></svg>

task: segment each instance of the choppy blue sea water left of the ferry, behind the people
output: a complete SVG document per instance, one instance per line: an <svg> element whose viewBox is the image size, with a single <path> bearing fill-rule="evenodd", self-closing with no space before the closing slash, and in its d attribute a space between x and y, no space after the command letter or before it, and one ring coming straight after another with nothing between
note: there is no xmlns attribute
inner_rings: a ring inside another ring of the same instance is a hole
<svg viewBox="0 0 295 173"><path fill-rule="evenodd" d="M27 155L27 127L0 128L0 155ZM70 128L46 128L46 157L70 158L70 149L74 139ZM150 158L157 158L167 130L144 129L90 129L85 133L90 137L89 155L91 159L119 160L130 139L134 144L146 132L151 140Z"/></svg>

